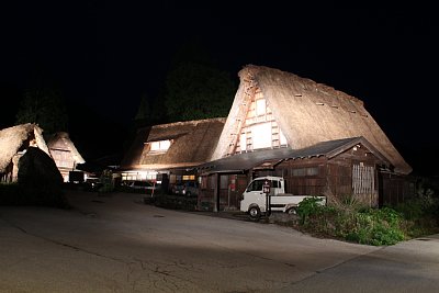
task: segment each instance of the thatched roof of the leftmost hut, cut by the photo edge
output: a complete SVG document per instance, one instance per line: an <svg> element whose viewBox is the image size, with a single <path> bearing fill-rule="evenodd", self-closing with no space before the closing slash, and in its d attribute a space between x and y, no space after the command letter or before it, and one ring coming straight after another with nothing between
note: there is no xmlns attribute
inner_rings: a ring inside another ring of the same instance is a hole
<svg viewBox="0 0 439 293"><path fill-rule="evenodd" d="M36 146L49 155L43 138L43 129L36 124L26 123L0 131L0 172L4 172L12 157L26 142L33 138L35 138Z"/></svg>

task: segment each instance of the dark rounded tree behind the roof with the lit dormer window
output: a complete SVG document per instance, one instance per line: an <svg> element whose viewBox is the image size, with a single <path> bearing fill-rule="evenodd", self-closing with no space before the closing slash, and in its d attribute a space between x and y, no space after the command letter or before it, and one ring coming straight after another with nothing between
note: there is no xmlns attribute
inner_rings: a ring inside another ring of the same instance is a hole
<svg viewBox="0 0 439 293"><path fill-rule="evenodd" d="M228 72L213 66L183 61L166 80L168 120L189 121L228 115L236 86Z"/></svg>

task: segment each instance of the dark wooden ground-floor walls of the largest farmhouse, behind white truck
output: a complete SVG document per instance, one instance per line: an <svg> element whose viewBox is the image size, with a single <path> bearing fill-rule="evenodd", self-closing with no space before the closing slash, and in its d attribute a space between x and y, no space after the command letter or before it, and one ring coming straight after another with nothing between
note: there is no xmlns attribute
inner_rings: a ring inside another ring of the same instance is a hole
<svg viewBox="0 0 439 293"><path fill-rule="evenodd" d="M279 161L279 160L278 160ZM356 200L378 207L403 202L414 194L405 177L380 173L385 162L362 145L328 159L325 156L285 159L273 169L249 170L248 174L210 174L202 177L199 207L218 211L239 209L241 193L252 178L279 176L285 180L285 192L296 195L326 195L327 201ZM379 176L380 174L380 176ZM230 190L233 180L236 189ZM216 187L219 187L216 189ZM215 199L219 199L219 205ZM216 205L215 205L216 204Z"/></svg>

